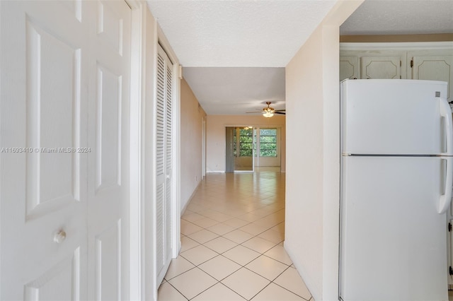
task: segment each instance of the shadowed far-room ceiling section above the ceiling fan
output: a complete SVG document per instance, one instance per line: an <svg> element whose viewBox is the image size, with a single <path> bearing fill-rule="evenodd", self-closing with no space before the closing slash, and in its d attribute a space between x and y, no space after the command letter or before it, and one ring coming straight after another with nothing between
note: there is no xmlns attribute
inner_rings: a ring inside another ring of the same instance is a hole
<svg viewBox="0 0 453 301"><path fill-rule="evenodd" d="M183 76L208 114L246 114L267 101L285 109L285 68L185 67Z"/></svg>

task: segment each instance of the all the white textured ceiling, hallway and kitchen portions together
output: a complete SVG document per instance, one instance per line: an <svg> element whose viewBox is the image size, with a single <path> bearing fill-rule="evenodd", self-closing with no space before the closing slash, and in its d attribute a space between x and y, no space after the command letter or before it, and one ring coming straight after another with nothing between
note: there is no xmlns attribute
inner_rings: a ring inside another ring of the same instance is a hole
<svg viewBox="0 0 453 301"><path fill-rule="evenodd" d="M282 67L335 2L148 0L207 114L246 114L266 101L284 109ZM340 27L341 35L414 33L453 33L453 0L366 0Z"/></svg>

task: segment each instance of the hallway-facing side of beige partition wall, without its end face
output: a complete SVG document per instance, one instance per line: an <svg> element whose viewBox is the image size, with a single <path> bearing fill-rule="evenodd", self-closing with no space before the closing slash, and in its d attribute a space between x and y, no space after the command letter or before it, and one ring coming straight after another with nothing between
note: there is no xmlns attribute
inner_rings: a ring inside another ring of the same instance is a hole
<svg viewBox="0 0 453 301"><path fill-rule="evenodd" d="M322 48L322 29L318 29L289 62L285 74L287 136L291 137L287 141L285 248L315 300L322 296L323 283Z"/></svg>

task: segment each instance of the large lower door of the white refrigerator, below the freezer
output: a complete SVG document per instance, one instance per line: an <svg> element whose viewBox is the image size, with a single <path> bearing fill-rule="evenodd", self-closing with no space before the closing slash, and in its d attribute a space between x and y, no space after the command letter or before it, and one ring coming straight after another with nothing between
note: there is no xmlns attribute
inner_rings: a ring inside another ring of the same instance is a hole
<svg viewBox="0 0 453 301"><path fill-rule="evenodd" d="M343 157L340 296L448 300L447 160Z"/></svg>

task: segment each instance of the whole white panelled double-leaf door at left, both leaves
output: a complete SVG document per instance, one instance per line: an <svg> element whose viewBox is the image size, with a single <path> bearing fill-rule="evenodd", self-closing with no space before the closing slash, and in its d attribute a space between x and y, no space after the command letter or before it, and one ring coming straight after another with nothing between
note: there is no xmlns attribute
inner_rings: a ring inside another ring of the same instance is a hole
<svg viewBox="0 0 453 301"><path fill-rule="evenodd" d="M0 11L0 300L125 300L130 8Z"/></svg>

